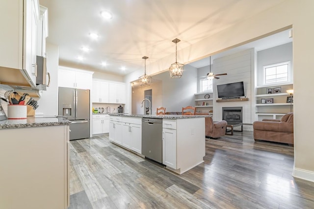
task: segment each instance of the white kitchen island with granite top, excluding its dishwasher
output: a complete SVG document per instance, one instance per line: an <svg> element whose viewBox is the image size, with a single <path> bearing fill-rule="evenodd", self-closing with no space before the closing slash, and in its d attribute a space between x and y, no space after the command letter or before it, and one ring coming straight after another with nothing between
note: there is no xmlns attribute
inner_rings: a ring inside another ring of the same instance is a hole
<svg viewBox="0 0 314 209"><path fill-rule="evenodd" d="M110 114L109 117L109 139L142 156L147 141L142 140L145 131L142 118L162 119L162 164L175 173L182 174L204 162L207 116Z"/></svg>

